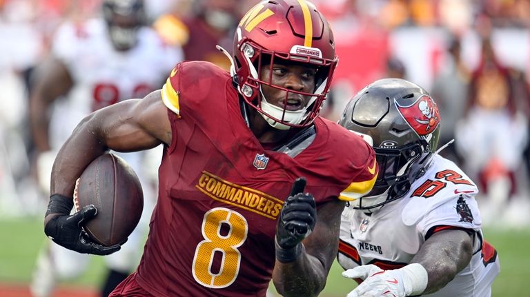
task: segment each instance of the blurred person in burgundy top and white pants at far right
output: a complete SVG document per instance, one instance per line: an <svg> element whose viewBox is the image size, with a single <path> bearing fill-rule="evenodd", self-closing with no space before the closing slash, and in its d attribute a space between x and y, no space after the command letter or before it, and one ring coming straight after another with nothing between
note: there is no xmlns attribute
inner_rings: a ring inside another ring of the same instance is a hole
<svg viewBox="0 0 530 297"><path fill-rule="evenodd" d="M516 221L505 210L517 194L516 172L528 142L528 118L522 108L528 103L522 99L524 104L518 104L516 88L491 39L483 37L480 61L471 74L467 110L456 126L456 148L465 156L462 166L478 178L484 197L482 213L507 222Z"/></svg>

